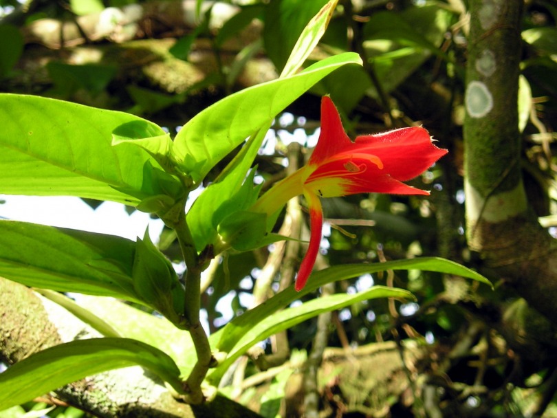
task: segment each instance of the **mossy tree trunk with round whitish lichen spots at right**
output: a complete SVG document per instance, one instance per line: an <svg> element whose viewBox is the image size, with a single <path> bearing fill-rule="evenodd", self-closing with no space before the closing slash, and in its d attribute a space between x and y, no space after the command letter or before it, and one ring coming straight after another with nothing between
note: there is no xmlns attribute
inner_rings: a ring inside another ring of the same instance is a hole
<svg viewBox="0 0 557 418"><path fill-rule="evenodd" d="M483 272L554 320L557 245L538 223L521 174L518 76L522 0L470 0L466 68L467 238Z"/></svg>

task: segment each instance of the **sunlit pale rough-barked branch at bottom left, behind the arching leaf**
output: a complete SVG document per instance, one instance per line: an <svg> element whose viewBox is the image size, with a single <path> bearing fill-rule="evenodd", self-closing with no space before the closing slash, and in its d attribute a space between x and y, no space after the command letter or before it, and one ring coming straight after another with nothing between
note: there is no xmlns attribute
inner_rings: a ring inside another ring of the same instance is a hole
<svg viewBox="0 0 557 418"><path fill-rule="evenodd" d="M0 361L8 364L78 338L100 335L62 307L23 285L0 278ZM52 393L96 417L256 418L252 410L226 397L200 406L174 399L163 382L140 366L118 369L74 382Z"/></svg>

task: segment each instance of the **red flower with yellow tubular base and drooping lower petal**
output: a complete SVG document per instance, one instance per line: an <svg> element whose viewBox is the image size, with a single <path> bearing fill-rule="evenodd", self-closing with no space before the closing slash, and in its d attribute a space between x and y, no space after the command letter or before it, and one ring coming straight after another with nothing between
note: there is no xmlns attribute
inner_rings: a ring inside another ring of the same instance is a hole
<svg viewBox="0 0 557 418"><path fill-rule="evenodd" d="M323 97L321 132L308 164L276 184L253 207L256 212L273 214L294 196L303 194L307 199L312 233L296 277L296 290L303 289L319 252L323 226L320 197L371 192L429 195L402 181L424 173L446 153L419 126L360 135L351 142L331 98Z"/></svg>

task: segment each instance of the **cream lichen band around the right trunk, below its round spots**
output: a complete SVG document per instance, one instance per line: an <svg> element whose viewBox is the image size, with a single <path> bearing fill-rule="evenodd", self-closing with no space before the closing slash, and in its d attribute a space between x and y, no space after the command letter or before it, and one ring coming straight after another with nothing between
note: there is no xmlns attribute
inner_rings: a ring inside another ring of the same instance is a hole
<svg viewBox="0 0 557 418"><path fill-rule="evenodd" d="M527 197L522 181L512 190L496 192L488 197L483 197L466 179L464 192L466 194L466 219L469 225L477 223L480 217L491 223L506 221L527 210Z"/></svg>

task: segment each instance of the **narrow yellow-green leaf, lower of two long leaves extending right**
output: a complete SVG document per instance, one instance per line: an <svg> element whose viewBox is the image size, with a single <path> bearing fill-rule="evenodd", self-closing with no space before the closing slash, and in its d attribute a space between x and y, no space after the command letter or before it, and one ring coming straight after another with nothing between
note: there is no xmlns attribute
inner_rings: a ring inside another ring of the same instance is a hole
<svg viewBox="0 0 557 418"><path fill-rule="evenodd" d="M226 360L221 362L217 369L211 373L209 377L210 383L218 384L220 378L223 373L226 372L230 364L232 364L240 355L245 353L245 351L247 351L250 347L256 344L256 342L265 340L267 337L270 337L280 331L284 331L290 327L294 327L294 325L298 325L300 322L309 318L314 318L314 316L323 314L323 312L342 309L343 307L353 305L354 303L358 303L362 300L376 298L411 299L413 298L413 295L404 289L374 286L371 289L358 294L334 294L325 298L316 298L309 300L298 307L285 309L264 318L261 317L263 318L261 321L245 330L243 336L234 344L234 347L232 347L228 353ZM257 307L254 311L255 310L257 310ZM231 328L233 330L234 325L232 325Z"/></svg>

